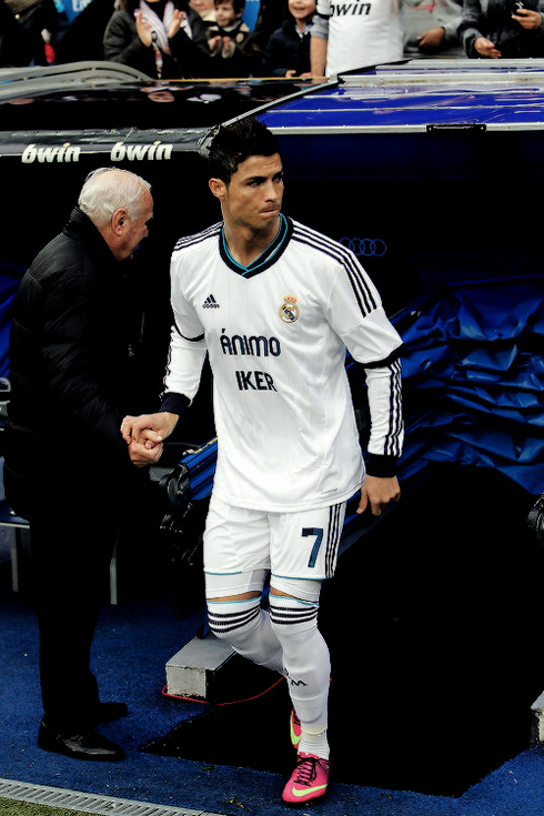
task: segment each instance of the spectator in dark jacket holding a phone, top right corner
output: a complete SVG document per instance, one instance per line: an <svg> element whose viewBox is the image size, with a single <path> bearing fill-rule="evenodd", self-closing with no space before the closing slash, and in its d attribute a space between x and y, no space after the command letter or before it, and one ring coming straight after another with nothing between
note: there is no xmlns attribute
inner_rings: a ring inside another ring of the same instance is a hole
<svg viewBox="0 0 544 816"><path fill-rule="evenodd" d="M470 58L544 57L542 0L465 0L457 33Z"/></svg>

